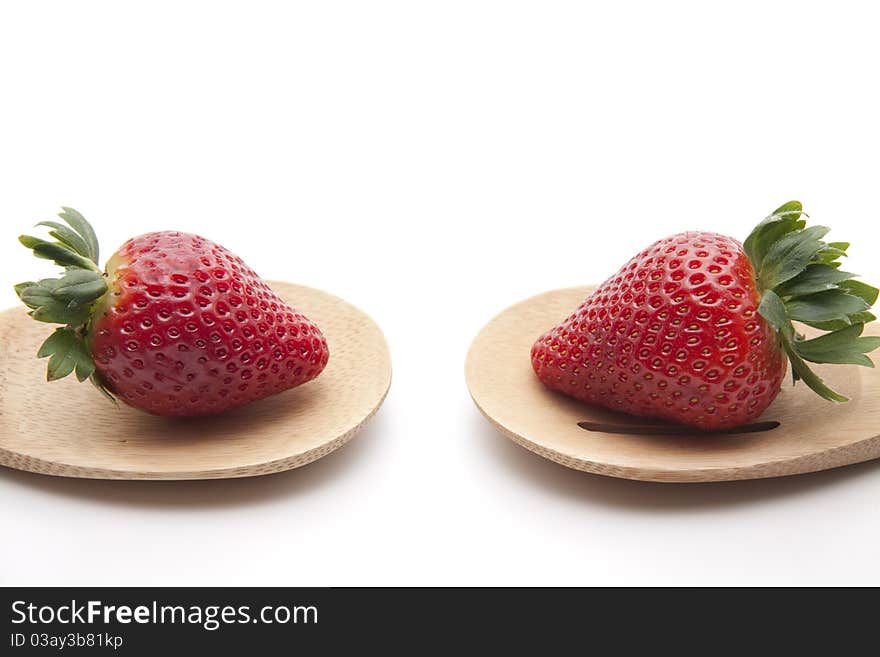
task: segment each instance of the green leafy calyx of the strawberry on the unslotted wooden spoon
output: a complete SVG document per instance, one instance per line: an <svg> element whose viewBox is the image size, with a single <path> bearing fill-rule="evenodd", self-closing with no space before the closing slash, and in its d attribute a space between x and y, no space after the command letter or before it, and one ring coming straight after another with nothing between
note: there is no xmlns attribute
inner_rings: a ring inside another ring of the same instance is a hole
<svg viewBox="0 0 880 657"><path fill-rule="evenodd" d="M109 290L106 276L98 265L98 238L85 217L73 208L62 208L58 216L64 224L55 221L37 224L48 227L55 241L30 235L22 235L18 241L36 257L63 267L63 272L57 278L19 283L15 293L30 309L28 315L33 319L61 325L37 351L38 358L49 358L46 379L55 381L74 373L79 381L89 379L115 401L95 369L85 339L92 309Z"/></svg>

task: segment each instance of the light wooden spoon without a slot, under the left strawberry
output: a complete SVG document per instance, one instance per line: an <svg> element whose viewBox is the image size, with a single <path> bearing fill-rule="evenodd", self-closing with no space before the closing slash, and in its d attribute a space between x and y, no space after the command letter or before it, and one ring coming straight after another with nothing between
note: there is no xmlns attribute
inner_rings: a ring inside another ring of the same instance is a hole
<svg viewBox="0 0 880 657"><path fill-rule="evenodd" d="M74 377L46 383L35 354L52 327L23 308L0 313L0 465L91 479L216 479L290 470L341 447L388 392L385 338L338 297L270 285L321 328L330 361L314 381L204 418L116 408Z"/></svg>

